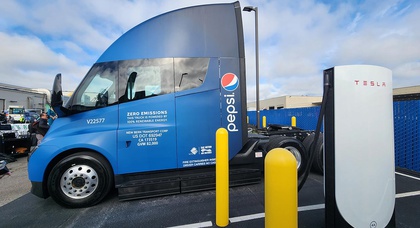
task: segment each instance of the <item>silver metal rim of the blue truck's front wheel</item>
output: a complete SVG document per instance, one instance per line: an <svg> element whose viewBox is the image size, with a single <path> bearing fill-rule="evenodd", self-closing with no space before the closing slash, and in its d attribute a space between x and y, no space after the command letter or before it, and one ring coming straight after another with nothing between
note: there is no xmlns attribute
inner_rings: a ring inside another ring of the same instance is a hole
<svg viewBox="0 0 420 228"><path fill-rule="evenodd" d="M98 174L87 165L75 165L61 176L60 186L63 193L72 199L90 196L98 187Z"/></svg>

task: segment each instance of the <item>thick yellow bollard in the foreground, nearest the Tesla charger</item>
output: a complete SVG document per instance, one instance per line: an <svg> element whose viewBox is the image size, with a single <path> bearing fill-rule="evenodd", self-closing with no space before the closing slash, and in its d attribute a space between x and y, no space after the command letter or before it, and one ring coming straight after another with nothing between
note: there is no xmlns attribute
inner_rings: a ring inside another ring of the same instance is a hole
<svg viewBox="0 0 420 228"><path fill-rule="evenodd" d="M275 148L264 162L265 227L298 227L297 163L288 150Z"/></svg>

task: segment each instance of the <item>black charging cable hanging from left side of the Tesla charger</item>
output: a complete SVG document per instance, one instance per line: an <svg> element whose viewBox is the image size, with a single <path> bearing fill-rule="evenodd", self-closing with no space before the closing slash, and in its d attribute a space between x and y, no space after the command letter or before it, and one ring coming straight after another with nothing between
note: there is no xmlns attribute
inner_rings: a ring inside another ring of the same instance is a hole
<svg viewBox="0 0 420 228"><path fill-rule="evenodd" d="M305 167L303 177L299 181L298 191L300 191L300 189L302 189L303 185L305 184L306 179L309 176L309 171L311 170L312 163L314 161L315 147L316 147L316 145L318 143L318 140L319 140L319 134L321 132L322 119L323 119L324 114L325 114L325 107L327 106L327 97L328 97L328 92L329 92L330 88L331 88L330 75L328 73L325 73L325 75L324 75L324 94L322 95L321 110L319 111L318 122L316 124L314 141L309 146L309 161L308 161L308 165Z"/></svg>

